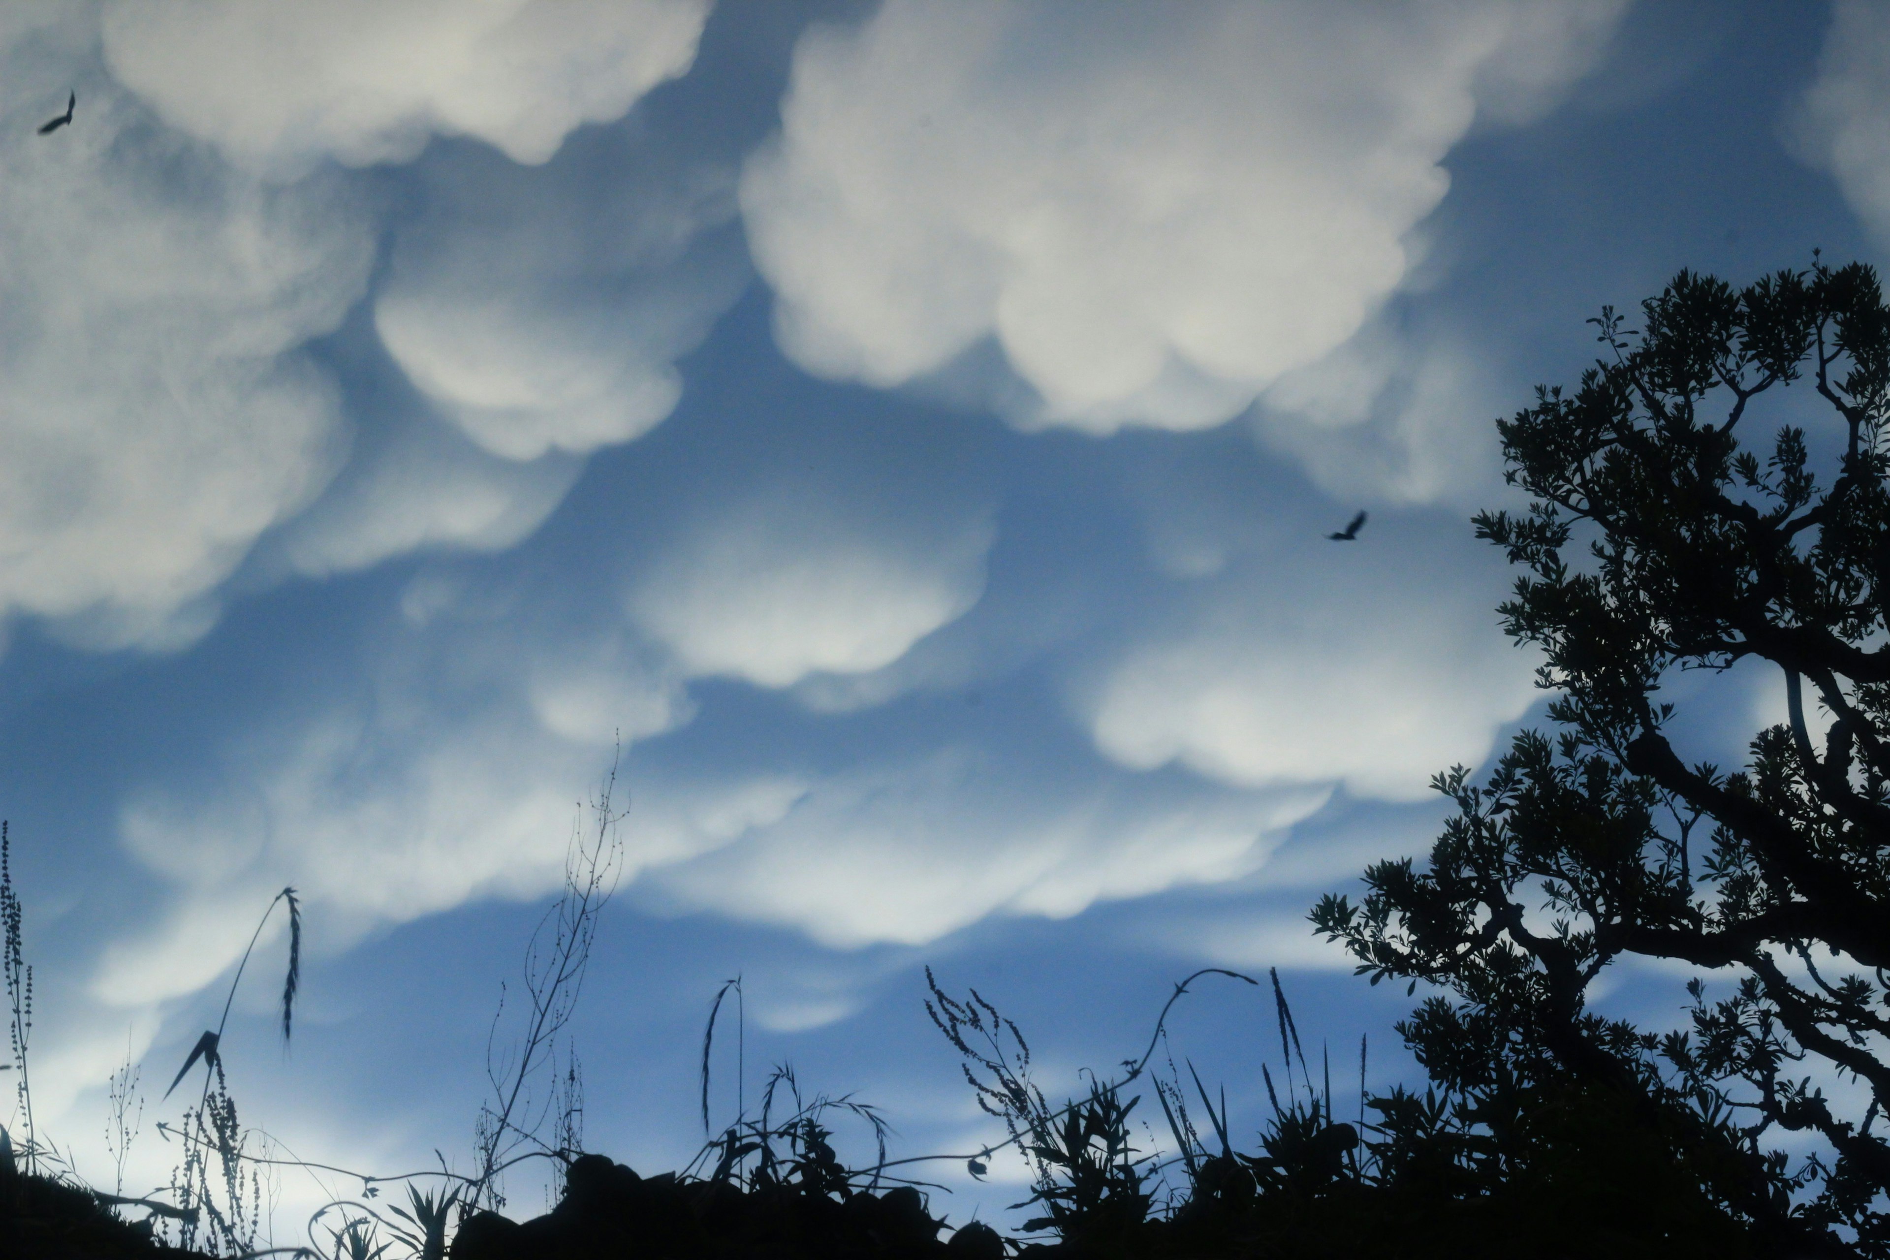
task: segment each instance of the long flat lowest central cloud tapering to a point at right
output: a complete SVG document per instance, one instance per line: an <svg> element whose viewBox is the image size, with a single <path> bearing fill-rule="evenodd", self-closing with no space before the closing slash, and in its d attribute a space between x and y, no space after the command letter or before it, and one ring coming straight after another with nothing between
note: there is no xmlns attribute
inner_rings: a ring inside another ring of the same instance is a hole
<svg viewBox="0 0 1890 1260"><path fill-rule="evenodd" d="M988 914L1066 918L1244 875L1325 795L1053 786L1019 758L949 746L815 782L779 822L654 871L652 886L837 948L922 945Z"/></svg>

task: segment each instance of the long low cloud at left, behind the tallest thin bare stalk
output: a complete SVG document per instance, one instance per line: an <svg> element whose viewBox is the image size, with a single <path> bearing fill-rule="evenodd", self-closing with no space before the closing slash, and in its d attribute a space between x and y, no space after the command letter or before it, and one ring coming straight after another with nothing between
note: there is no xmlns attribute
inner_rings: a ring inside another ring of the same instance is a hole
<svg viewBox="0 0 1890 1260"><path fill-rule="evenodd" d="M399 729L342 710L274 752L232 765L212 799L127 805L123 843L176 899L153 929L104 950L100 1001L146 1007L210 984L248 943L248 916L285 884L323 924L327 950L467 901L548 895L610 756L516 712ZM777 820L805 786L764 775L620 790L627 882Z"/></svg>

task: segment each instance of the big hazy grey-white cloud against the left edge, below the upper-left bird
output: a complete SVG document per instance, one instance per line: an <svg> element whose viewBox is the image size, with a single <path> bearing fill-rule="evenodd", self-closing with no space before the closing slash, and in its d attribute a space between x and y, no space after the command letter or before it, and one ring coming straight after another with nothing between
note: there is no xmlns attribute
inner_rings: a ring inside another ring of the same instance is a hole
<svg viewBox="0 0 1890 1260"><path fill-rule="evenodd" d="M301 346L365 291L372 234L346 189L257 185L96 76L36 136L85 74L55 36L79 38L15 43L0 89L0 608L176 642L346 453Z"/></svg>

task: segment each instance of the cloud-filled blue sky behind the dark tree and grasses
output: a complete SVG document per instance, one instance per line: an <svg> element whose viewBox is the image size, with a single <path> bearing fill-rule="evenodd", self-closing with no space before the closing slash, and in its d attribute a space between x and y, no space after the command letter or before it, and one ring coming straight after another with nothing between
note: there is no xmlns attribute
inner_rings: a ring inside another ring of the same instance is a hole
<svg viewBox="0 0 1890 1260"><path fill-rule="evenodd" d="M1493 419L1682 266L1884 261L1890 9L17 4L0 170L42 1135L115 1183L142 1065L125 1184L166 1181L159 1094L293 884L293 1041L280 916L225 1039L244 1120L467 1167L616 765L586 1147L696 1152L739 975L716 1126L792 1064L892 1154L964 1152L1002 1130L928 965L1051 1094L1198 967L1278 967L1302 1033L1414 1079L1412 1001L1304 916L1542 722L1469 525L1518 502ZM1778 691L1676 680L1690 754ZM1599 999L1671 1026L1682 980ZM1227 979L1172 1020L1246 1132L1270 1020ZM1011 1220L1021 1167L924 1167Z"/></svg>

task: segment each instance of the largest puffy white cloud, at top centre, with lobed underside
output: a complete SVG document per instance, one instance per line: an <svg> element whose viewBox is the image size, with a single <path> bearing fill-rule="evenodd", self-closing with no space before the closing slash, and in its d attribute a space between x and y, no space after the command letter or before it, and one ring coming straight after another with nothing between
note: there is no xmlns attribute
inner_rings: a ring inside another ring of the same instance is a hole
<svg viewBox="0 0 1890 1260"><path fill-rule="evenodd" d="M1620 8L892 0L809 32L741 187L781 344L894 385L994 338L1019 421L1219 423L1365 325L1480 110L1540 111Z"/></svg>

